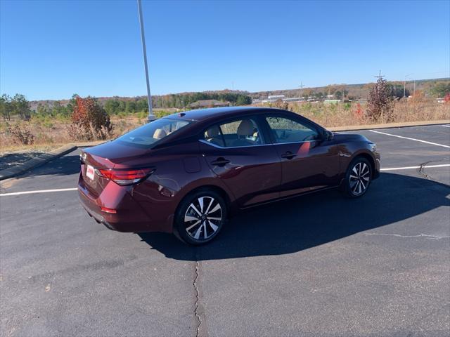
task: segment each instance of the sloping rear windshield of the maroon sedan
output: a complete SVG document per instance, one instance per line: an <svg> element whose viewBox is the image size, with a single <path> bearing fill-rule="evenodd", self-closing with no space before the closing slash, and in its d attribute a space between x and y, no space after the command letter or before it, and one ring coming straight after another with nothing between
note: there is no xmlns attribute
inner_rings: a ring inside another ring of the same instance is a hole
<svg viewBox="0 0 450 337"><path fill-rule="evenodd" d="M125 133L123 136L117 138L117 140L127 144L150 147L158 142L158 140L162 140L170 134L179 131L188 124L191 124L191 121L182 121L179 119L169 118L157 119L144 126L136 128L129 133Z"/></svg>

